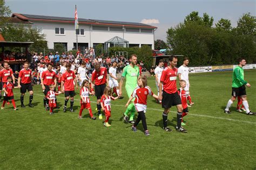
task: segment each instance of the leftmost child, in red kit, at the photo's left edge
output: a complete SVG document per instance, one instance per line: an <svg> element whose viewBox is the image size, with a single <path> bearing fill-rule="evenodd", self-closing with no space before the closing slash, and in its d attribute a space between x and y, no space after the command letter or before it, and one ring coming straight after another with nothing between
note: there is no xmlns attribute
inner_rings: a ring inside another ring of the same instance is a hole
<svg viewBox="0 0 256 170"><path fill-rule="evenodd" d="M14 105L14 110L16 111L18 109L18 107L16 107L15 105L15 100L14 100L14 92L12 91L12 89L14 88L18 88L18 87L14 87L14 84L11 83L11 77L7 78L7 83L4 84L3 86L3 90L4 90L4 101L3 101L3 105L1 107L1 109L4 109L4 105L8 100L11 100L12 105Z"/></svg>

